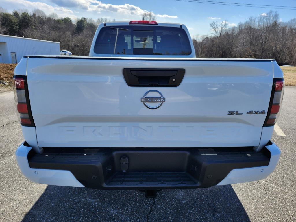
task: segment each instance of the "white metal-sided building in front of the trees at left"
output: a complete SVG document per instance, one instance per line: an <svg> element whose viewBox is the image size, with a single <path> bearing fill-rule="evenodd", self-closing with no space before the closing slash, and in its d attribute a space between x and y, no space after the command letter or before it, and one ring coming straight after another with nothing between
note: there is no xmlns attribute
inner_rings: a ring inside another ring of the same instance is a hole
<svg viewBox="0 0 296 222"><path fill-rule="evenodd" d="M25 55L59 54L59 42L0 35L0 63L18 63Z"/></svg>

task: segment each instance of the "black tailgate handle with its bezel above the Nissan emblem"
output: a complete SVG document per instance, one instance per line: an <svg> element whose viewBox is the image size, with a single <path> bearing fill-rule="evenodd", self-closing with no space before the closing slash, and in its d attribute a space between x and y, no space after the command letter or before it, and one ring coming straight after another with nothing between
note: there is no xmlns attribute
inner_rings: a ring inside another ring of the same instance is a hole
<svg viewBox="0 0 296 222"><path fill-rule="evenodd" d="M184 74L185 69L123 69L123 76L128 86L176 87L180 85Z"/></svg>

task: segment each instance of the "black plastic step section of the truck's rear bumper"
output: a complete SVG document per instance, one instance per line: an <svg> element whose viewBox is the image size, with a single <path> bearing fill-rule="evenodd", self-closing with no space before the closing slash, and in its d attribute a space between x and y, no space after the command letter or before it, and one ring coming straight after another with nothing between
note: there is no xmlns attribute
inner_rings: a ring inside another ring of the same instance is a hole
<svg viewBox="0 0 296 222"><path fill-rule="evenodd" d="M44 148L28 155L31 168L69 170L94 189L210 187L237 168L267 166L270 152L252 147Z"/></svg>

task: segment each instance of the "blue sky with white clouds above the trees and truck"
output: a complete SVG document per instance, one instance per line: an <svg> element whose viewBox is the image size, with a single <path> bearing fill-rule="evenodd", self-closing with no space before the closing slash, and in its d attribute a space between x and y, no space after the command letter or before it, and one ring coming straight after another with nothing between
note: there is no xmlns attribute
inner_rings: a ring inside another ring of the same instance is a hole
<svg viewBox="0 0 296 222"><path fill-rule="evenodd" d="M209 0L232 3L293 6L295 0ZM202 4L173 0L0 0L0 6L8 12L16 9L42 9L46 14L57 13L61 17L72 19L88 17L96 20L107 17L122 20L139 20L143 11L151 11L157 21L183 23L189 28L192 36L210 34L210 23L227 20L230 26L247 20L250 16L257 17L269 10L279 12L280 20L287 22L296 17L296 10L268 9L255 7L226 6ZM264 15L264 14L263 14Z"/></svg>

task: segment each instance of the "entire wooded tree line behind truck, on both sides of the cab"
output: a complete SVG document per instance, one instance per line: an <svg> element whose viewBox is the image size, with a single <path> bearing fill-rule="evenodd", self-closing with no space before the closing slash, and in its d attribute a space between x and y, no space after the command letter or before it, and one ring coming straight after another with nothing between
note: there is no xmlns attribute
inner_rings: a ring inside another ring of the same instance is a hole
<svg viewBox="0 0 296 222"><path fill-rule="evenodd" d="M155 20L152 13L145 13L144 20ZM110 20L73 21L40 9L8 13L0 7L0 34L60 42L61 49L74 55L88 55L96 28L104 22ZM211 35L193 38L197 57L276 59L280 65L296 65L296 19L281 22L278 12L270 11L234 27L227 21L212 22L210 29Z"/></svg>

